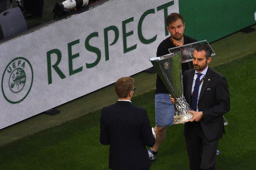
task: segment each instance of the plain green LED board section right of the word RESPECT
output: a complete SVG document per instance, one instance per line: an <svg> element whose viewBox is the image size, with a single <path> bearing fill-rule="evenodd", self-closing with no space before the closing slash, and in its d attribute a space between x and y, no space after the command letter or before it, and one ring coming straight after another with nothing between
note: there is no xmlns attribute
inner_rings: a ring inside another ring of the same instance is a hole
<svg viewBox="0 0 256 170"><path fill-rule="evenodd" d="M180 0L185 35L213 42L256 23L255 0Z"/></svg>

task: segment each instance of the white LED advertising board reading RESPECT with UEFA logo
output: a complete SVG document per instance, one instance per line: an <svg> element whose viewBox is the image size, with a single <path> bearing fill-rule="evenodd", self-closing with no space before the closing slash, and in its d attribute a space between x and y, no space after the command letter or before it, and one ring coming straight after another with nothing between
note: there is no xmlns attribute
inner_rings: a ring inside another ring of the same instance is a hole
<svg viewBox="0 0 256 170"><path fill-rule="evenodd" d="M0 44L0 129L149 67L178 0L112 0Z"/></svg>

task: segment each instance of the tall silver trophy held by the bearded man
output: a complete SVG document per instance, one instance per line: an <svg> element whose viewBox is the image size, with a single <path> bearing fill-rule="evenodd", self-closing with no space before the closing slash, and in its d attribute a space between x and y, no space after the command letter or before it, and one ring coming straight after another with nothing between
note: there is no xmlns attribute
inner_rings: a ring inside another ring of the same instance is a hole
<svg viewBox="0 0 256 170"><path fill-rule="evenodd" d="M193 114L188 112L192 109L189 107L189 104L183 96L180 51L160 57L154 57L151 58L150 61L168 92L175 99L174 124L181 124L190 121L190 119L193 118Z"/></svg>

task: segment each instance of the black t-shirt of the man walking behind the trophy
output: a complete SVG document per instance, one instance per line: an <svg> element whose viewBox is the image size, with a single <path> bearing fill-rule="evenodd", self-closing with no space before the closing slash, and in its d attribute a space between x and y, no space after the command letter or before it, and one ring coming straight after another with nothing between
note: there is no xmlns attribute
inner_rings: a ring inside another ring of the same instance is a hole
<svg viewBox="0 0 256 170"><path fill-rule="evenodd" d="M192 39L188 36L184 36L184 45L185 44L189 44L189 43L192 43L192 42L197 42L195 39ZM166 55L166 54L169 54L169 48L173 48L175 47L175 45L173 44L173 42L170 40L170 38L166 38L165 40L163 40L158 48L157 48L157 52L156 52L156 56L157 57L160 57L162 55ZM185 70L188 70L189 69L189 66L188 66L189 63L182 63L182 72L184 72ZM159 77L159 75L157 74L157 77L156 77L156 94L157 93L168 93L168 90L166 89L164 83L162 82L161 78Z"/></svg>

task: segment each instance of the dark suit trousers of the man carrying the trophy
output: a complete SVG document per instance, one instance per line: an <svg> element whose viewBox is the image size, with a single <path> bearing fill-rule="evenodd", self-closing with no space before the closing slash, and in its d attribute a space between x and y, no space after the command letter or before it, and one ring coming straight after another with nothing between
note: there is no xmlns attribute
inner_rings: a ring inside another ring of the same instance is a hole
<svg viewBox="0 0 256 170"><path fill-rule="evenodd" d="M193 123L193 122L192 122ZM216 170L218 141L208 141L199 122L193 124L186 135L190 170Z"/></svg>

